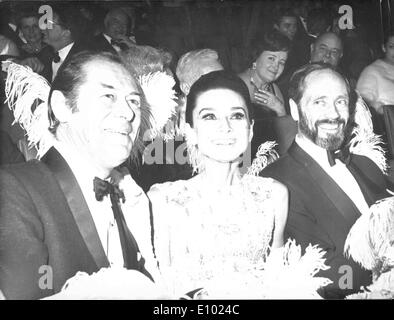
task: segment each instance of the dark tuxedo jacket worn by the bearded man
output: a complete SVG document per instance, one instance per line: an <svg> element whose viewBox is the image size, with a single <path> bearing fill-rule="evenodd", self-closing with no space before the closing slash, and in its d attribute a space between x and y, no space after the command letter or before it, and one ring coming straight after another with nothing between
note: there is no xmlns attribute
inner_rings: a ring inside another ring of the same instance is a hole
<svg viewBox="0 0 394 320"><path fill-rule="evenodd" d="M370 159L352 155L350 166L364 175L361 181L353 174L368 205L388 196L384 177ZM346 237L360 212L313 158L293 143L288 153L265 168L261 175L282 182L289 190L285 238L295 239L303 249L311 243L327 252L326 264L331 268L319 276L330 278L333 284L321 290L324 298L341 299L358 291L361 285L371 284L370 272L343 255ZM353 289L342 290L341 283L350 284L346 281L346 275L350 275L346 266L352 270Z"/></svg>

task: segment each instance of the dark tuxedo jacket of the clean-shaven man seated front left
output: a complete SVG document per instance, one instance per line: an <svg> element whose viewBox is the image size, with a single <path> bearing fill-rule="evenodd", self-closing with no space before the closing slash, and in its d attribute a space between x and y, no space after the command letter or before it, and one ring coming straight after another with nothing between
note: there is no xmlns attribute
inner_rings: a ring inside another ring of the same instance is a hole
<svg viewBox="0 0 394 320"><path fill-rule="evenodd" d="M42 161L0 170L0 288L7 299L52 295L76 272L108 266L82 191L55 149ZM143 259L135 269L145 273Z"/></svg>

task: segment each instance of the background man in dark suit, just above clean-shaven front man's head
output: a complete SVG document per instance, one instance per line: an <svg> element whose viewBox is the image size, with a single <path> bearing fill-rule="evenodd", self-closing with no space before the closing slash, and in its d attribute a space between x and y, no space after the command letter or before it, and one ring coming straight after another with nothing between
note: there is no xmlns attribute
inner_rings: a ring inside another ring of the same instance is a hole
<svg viewBox="0 0 394 320"><path fill-rule="evenodd" d="M135 39L128 37L131 26L131 18L124 10L111 9L104 18L104 32L93 39L93 49L119 53L135 45Z"/></svg>

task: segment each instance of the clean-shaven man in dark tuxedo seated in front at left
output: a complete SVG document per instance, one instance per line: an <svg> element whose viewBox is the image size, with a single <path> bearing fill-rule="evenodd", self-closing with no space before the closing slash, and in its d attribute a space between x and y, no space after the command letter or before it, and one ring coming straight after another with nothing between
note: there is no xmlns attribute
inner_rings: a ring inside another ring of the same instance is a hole
<svg viewBox="0 0 394 320"><path fill-rule="evenodd" d="M133 147L141 95L111 53L85 51L60 69L49 94L53 147L41 161L0 170L0 288L7 299L53 295L78 271L103 267L151 276L148 200L129 175L113 170Z"/></svg>

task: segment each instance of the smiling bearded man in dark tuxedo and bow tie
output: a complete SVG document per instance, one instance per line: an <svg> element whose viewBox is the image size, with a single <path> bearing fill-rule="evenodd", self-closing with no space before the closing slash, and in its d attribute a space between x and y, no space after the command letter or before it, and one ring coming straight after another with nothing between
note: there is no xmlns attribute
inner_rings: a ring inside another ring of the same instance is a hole
<svg viewBox="0 0 394 320"><path fill-rule="evenodd" d="M289 94L298 133L287 153L262 175L288 187L285 237L303 249L312 244L327 252L330 269L319 276L333 283L320 294L344 298L372 281L370 272L344 256L344 243L357 218L388 196L386 182L374 162L345 148L356 96L332 66L301 67L291 79Z"/></svg>

